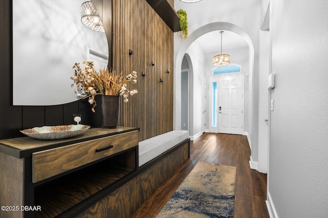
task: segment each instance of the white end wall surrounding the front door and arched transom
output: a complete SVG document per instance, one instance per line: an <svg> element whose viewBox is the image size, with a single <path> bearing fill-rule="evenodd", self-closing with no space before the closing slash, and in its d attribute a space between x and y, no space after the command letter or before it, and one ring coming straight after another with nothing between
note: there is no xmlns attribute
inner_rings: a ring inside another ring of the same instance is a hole
<svg viewBox="0 0 328 218"><path fill-rule="evenodd" d="M211 114L210 114L210 92L211 90L211 84L210 84L210 78L213 77L212 70L214 68L213 66L213 57L217 54L219 54L220 51L215 53L207 53L206 54L206 128L209 129L211 125ZM232 49L232 50L226 50L224 51L225 54L230 55L231 63L232 64L239 64L241 65L241 74L244 75L244 114L248 114L248 107L249 107L249 54L248 54L248 47L241 47L238 49ZM233 75L240 75L240 73L233 73L233 74L224 74L224 75L216 75L216 76L233 76ZM244 131L247 132L248 126L249 126L249 119L248 116L244 115Z"/></svg>

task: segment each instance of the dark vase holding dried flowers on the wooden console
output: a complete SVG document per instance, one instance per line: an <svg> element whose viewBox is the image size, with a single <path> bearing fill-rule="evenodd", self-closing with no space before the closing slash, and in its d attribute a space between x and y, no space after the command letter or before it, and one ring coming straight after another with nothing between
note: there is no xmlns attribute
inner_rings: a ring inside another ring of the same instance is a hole
<svg viewBox="0 0 328 218"><path fill-rule="evenodd" d="M115 129L118 125L118 113L120 96L116 95L96 95L97 106L92 112L91 126Z"/></svg>

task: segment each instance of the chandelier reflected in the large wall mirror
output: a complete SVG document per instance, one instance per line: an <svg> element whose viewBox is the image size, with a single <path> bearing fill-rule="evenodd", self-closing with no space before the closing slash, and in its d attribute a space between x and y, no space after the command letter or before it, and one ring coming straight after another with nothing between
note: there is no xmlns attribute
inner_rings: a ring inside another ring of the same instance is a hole
<svg viewBox="0 0 328 218"><path fill-rule="evenodd" d="M81 5L81 22L91 30L105 32L103 22L91 1Z"/></svg>

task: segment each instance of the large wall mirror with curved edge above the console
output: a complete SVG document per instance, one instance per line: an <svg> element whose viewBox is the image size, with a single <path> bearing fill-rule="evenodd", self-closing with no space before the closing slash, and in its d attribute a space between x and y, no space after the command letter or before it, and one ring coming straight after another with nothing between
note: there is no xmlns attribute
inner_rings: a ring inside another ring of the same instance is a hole
<svg viewBox="0 0 328 218"><path fill-rule="evenodd" d="M74 102L75 62L107 67L105 32L81 23L85 0L13 0L13 105ZM101 10L101 9L98 9Z"/></svg>

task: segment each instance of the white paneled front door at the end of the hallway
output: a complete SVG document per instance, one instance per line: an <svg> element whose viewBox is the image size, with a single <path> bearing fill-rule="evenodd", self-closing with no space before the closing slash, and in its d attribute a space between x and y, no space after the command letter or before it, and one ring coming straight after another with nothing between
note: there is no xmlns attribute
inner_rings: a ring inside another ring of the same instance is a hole
<svg viewBox="0 0 328 218"><path fill-rule="evenodd" d="M219 133L243 133L243 76L219 78Z"/></svg>

